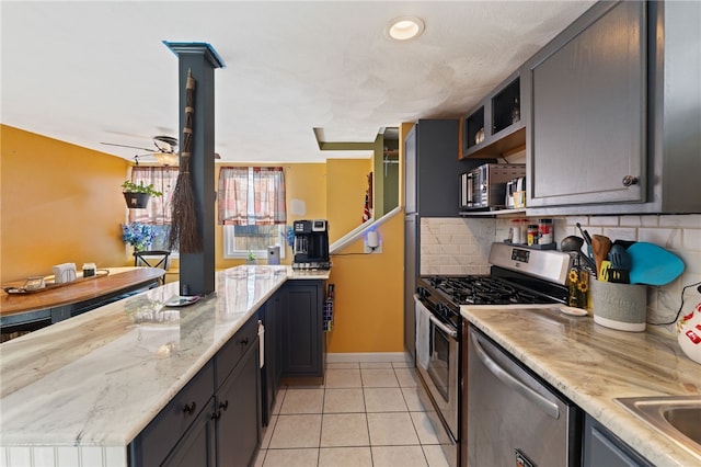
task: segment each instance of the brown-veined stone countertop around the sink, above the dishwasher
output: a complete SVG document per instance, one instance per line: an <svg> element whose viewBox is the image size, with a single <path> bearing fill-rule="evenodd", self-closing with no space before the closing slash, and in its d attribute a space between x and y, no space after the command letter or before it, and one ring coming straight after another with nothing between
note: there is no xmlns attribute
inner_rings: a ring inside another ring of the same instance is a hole
<svg viewBox="0 0 701 467"><path fill-rule="evenodd" d="M675 339L605 328L556 306L463 306L461 314L653 464L700 465L613 400L701 396L701 365Z"/></svg>

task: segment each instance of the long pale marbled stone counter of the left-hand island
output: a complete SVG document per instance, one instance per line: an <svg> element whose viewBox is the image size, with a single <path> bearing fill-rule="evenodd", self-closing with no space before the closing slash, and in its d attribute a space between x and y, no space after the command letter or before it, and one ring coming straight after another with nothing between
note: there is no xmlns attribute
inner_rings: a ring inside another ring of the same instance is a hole
<svg viewBox="0 0 701 467"><path fill-rule="evenodd" d="M127 445L286 280L239 266L194 305L172 283L0 345L0 466L126 466Z"/></svg>

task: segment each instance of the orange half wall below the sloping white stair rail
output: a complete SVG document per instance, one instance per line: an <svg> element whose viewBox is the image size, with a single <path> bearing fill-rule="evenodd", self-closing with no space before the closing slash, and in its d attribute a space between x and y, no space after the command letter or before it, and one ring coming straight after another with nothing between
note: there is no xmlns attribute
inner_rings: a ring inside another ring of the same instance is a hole
<svg viewBox="0 0 701 467"><path fill-rule="evenodd" d="M329 352L404 351L404 216L377 228L382 252L361 254L358 240L332 257L334 326ZM353 254L360 253L360 254Z"/></svg>

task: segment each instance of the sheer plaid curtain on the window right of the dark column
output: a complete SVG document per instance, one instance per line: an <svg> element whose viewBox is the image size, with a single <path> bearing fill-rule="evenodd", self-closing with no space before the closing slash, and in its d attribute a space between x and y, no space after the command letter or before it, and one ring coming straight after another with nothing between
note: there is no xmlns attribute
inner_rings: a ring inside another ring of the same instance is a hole
<svg viewBox="0 0 701 467"><path fill-rule="evenodd" d="M219 224L265 226L287 223L281 167L222 167L219 171Z"/></svg>

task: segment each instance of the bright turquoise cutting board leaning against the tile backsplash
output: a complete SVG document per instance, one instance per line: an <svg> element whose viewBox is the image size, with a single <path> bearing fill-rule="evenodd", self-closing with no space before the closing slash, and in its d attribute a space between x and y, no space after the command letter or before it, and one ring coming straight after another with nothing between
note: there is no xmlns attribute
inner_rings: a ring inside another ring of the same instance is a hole
<svg viewBox="0 0 701 467"><path fill-rule="evenodd" d="M628 248L631 284L665 285L683 272L683 261L654 243L639 241Z"/></svg>

